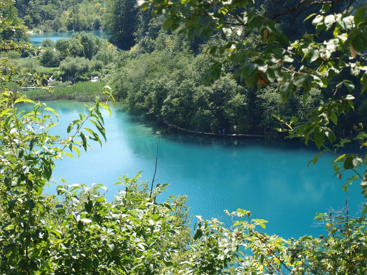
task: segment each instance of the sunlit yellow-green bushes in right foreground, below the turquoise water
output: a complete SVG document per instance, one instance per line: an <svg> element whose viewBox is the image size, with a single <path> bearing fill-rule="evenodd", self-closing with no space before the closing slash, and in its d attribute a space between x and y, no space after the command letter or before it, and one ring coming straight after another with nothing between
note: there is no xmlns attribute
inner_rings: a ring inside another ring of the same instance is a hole
<svg viewBox="0 0 367 275"><path fill-rule="evenodd" d="M366 221L319 214L328 235L283 239L262 232L265 220L251 212L225 210L226 225L200 216L185 268L178 274L364 274L366 272ZM228 225L230 227L228 227Z"/></svg>

